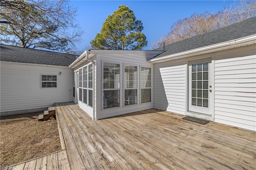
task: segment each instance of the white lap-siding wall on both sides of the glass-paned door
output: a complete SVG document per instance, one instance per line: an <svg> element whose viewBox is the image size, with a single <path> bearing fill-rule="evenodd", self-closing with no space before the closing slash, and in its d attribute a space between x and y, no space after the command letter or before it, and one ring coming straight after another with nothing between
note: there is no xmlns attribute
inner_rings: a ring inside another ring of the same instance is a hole
<svg viewBox="0 0 256 170"><path fill-rule="evenodd" d="M251 45L210 54L214 56L212 117L215 122L256 131L255 49L256 45ZM193 58L200 57L204 55ZM154 108L188 115L186 61L154 64ZM203 116L198 114L198 117Z"/></svg>

